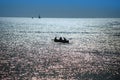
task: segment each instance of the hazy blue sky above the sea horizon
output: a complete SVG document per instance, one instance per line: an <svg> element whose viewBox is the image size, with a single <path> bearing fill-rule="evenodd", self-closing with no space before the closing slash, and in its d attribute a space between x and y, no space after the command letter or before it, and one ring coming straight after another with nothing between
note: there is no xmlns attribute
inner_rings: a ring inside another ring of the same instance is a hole
<svg viewBox="0 0 120 80"><path fill-rule="evenodd" d="M0 0L4 17L119 17L120 0Z"/></svg>

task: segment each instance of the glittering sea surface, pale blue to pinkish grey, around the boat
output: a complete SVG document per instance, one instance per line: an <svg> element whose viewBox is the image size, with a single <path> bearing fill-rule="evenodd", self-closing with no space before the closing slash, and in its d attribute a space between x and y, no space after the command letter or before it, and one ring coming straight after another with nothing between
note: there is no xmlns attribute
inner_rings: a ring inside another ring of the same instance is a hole
<svg viewBox="0 0 120 80"><path fill-rule="evenodd" d="M0 79L120 80L120 18L0 17Z"/></svg>

